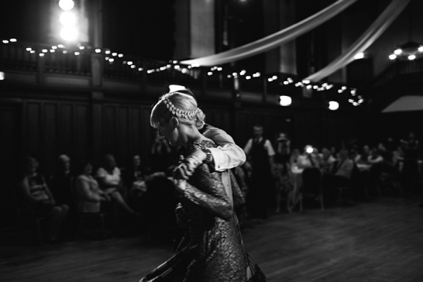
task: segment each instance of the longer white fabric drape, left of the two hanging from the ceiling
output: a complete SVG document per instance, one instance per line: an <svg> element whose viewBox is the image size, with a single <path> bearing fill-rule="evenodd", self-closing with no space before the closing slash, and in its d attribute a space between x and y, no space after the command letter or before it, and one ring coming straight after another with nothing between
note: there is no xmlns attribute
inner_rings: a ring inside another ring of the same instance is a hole
<svg viewBox="0 0 423 282"><path fill-rule="evenodd" d="M275 47L278 47L279 45L293 40L295 37L298 37L305 32L314 29L322 23L325 23L327 20L338 15L338 13L341 13L345 10L345 8L348 8L356 1L357 0L338 0L331 6L328 6L319 11L319 13L315 13L313 16L310 16L309 18L306 18L299 23L290 25L283 30L275 32L274 34L267 37L263 37L262 39L259 39L255 42L251 42L249 44L245 44L243 46L224 51L219 54L180 61L180 63L197 66L216 66L222 63L238 61L240 59L245 59L247 57L269 51L270 49L274 49Z"/></svg>

